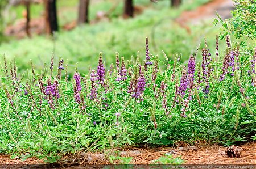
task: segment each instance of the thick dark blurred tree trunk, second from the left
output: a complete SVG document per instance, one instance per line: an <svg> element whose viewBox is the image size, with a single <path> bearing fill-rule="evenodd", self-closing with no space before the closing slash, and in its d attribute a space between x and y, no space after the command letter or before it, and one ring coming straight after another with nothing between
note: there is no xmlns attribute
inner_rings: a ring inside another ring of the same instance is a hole
<svg viewBox="0 0 256 169"><path fill-rule="evenodd" d="M58 31L56 0L44 0L46 33L53 34Z"/></svg>

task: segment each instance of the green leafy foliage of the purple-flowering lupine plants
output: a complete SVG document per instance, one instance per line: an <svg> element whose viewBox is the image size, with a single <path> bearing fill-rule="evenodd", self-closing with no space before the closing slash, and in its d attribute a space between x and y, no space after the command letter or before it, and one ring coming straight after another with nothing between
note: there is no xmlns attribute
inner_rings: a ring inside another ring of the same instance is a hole
<svg viewBox="0 0 256 169"><path fill-rule="evenodd" d="M135 72L139 73L138 65L143 64L144 57L139 53L136 62L127 61L126 69L129 68L130 72L127 74L131 75L125 81L118 82L117 70L112 68L112 74L106 73L104 86L96 82L97 99L90 99L93 89L90 74L82 74L82 101L79 103L74 98L74 86L77 84L65 79L68 75L65 71L62 75L53 74L49 77L47 64L40 74L34 74L34 69L27 71L28 79L23 83L24 74L16 75L15 61L10 64L3 61L0 77L0 153L13 154L13 157L23 159L34 156L56 162L68 153L125 145L172 145L181 140L191 144L205 140L208 143L230 145L254 139L256 89L251 85L251 75L247 73L251 70L250 57L254 51L242 48L240 52L237 60L241 64L240 71L236 70L235 76L232 76L232 67L229 67L230 73L226 74L224 81L218 80L223 63L210 62L209 66L214 67L214 71L209 78L209 94L205 95L202 91L205 82L201 83L202 87L198 90L194 88L192 100L186 107L186 116L183 116L182 109L189 96L188 90L184 98L179 95L175 97L182 67L187 64L181 64L177 57L174 61L152 57L152 61L168 64L169 67L165 70L155 69L154 64L147 67L148 70L144 71L146 88L142 100L131 98L127 93ZM225 54L220 53L220 56ZM57 67L54 67L53 73ZM196 70L199 67L197 65ZM155 80L152 74L155 74ZM174 79L173 74L176 76ZM44 92L49 85L47 83L52 84L54 77L59 84L57 89L60 98L53 97L52 102L49 102L51 95ZM196 71L195 86L198 80L199 73ZM167 85L164 95L168 113L163 108L162 82ZM242 93L241 88L245 89ZM112 160L129 163L131 159L113 157ZM176 160L164 157L157 162L170 163Z"/></svg>

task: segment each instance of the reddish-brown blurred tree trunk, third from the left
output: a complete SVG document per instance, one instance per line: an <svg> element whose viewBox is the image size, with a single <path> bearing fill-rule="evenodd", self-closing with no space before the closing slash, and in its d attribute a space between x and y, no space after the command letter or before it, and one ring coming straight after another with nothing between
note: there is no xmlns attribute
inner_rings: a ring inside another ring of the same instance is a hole
<svg viewBox="0 0 256 169"><path fill-rule="evenodd" d="M79 1L79 19L78 24L89 23L88 19L89 0Z"/></svg>

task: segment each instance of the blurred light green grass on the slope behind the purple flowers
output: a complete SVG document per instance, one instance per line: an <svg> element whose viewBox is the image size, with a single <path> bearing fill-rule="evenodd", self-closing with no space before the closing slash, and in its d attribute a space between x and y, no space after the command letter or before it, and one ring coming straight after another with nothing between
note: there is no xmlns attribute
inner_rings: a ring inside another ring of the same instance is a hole
<svg viewBox="0 0 256 169"><path fill-rule="evenodd" d="M48 62L51 52L54 52L56 57L68 59L70 66L74 67L76 62L82 62L85 66L80 67L79 70L86 73L88 65L96 66L94 60L100 51L104 53L106 66L114 61L115 52L120 52L121 56L126 59L130 58L131 55L135 56L137 51L144 53L144 44L141 39L150 37L150 41L153 40L152 31L154 30L153 27L156 26L154 39L156 47L150 46L152 53L159 53L160 58L163 58L161 50L164 50L169 58L176 53L183 53L186 56L183 58L185 61L189 54L195 50L199 41L203 42L202 29L205 30L205 36L212 37L217 34L217 27L209 29L208 26L212 25L209 22L205 25L192 27L192 33L189 35L174 21L174 18L179 16L181 11L189 10L191 7L195 8L204 2L206 1L188 1L180 9L170 9L168 1L158 4L138 1L136 2L137 5L148 5L148 7L143 11L143 14L133 19L112 18L112 22L84 25L70 32L60 31L56 33L54 40L44 36L14 40L11 43L2 44L0 53L5 53L8 59L15 58L19 69L26 70L30 67L30 59L34 61L36 67L43 68L44 62ZM92 6L92 9L94 7L96 9L91 11L92 17L95 16L94 12L97 10L107 11L110 7L109 1L102 3L96 3ZM105 6L105 3L108 5ZM106 9L100 9L102 6ZM122 5L119 5L115 10L117 16L121 15L121 7ZM73 17L74 14L71 12L69 16ZM68 20L72 19L75 18ZM213 49L214 43L209 43L209 48Z"/></svg>

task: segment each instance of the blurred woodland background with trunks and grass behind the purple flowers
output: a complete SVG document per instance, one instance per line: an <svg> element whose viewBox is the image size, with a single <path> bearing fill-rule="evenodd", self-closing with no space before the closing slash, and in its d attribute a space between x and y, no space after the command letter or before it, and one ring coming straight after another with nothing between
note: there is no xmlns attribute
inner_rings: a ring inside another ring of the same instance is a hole
<svg viewBox="0 0 256 169"><path fill-rule="evenodd" d="M87 73L100 51L107 68L115 52L130 60L139 51L144 60L148 37L153 55L182 53L185 62L204 36L215 53L215 11L226 19L232 9L232 0L0 0L0 54L15 58L19 70L30 59L41 70L53 52L68 60L70 72L79 62Z"/></svg>

